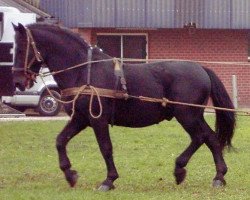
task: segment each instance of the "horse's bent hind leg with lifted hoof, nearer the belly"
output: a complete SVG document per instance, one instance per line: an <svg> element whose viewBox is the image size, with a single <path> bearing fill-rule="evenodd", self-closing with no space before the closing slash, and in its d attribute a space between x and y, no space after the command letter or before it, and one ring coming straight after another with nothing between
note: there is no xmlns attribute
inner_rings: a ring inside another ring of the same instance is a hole
<svg viewBox="0 0 250 200"><path fill-rule="evenodd" d="M199 119L193 119L192 116L183 114L180 115L180 117L177 116L176 119L191 137L191 143L186 148L186 150L176 159L175 162L175 180L177 184L180 184L186 177L185 166L187 165L192 155L204 143L204 140L202 136L202 123Z"/></svg>

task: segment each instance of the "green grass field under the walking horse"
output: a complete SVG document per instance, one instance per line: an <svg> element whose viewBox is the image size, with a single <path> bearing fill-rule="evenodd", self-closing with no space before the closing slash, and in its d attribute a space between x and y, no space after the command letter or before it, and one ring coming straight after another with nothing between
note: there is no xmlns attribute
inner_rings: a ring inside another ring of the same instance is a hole
<svg viewBox="0 0 250 200"><path fill-rule="evenodd" d="M213 124L214 117L207 117ZM87 129L68 145L80 178L69 188L58 167L55 138L64 121L0 122L0 200L27 199L250 199L250 120L239 117L233 140L237 152L225 152L227 186L212 188L215 167L202 146L190 160L187 178L175 185L175 158L187 147L188 135L176 121L130 129L114 127L111 137L120 178L116 189L96 191L106 167L93 131Z"/></svg>

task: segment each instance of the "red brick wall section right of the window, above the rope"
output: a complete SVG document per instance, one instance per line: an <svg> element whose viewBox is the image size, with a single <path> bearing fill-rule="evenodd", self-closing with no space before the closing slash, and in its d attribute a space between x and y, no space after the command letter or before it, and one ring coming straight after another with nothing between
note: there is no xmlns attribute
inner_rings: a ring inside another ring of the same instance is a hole
<svg viewBox="0 0 250 200"><path fill-rule="evenodd" d="M186 29L149 32L149 55L210 61L247 61L247 32Z"/></svg>

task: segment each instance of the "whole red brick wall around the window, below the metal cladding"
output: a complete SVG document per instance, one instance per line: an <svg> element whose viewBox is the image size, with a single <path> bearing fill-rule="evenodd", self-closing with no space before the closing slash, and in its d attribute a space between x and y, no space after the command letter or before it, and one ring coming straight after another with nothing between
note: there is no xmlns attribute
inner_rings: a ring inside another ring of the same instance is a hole
<svg viewBox="0 0 250 200"><path fill-rule="evenodd" d="M147 33L149 58L188 59L219 62L247 62L248 33L244 30L80 30L84 37L96 43L96 33ZM90 39L91 38L91 39ZM250 106L249 66L203 64L215 71L232 96L232 75L237 76L240 107Z"/></svg>

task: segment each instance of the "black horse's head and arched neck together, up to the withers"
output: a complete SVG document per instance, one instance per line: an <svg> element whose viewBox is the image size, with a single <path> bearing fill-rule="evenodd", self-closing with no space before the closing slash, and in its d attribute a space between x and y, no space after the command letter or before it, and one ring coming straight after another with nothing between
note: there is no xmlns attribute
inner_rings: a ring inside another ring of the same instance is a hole
<svg viewBox="0 0 250 200"><path fill-rule="evenodd" d="M54 73L55 81L63 89L83 85L90 80L90 70L83 63L110 59L91 48L78 34L61 26L35 23L24 27L18 24L14 25L14 30L16 47L13 80L20 90L32 86L42 64ZM103 68L96 69L102 71ZM58 71L60 73L55 75Z"/></svg>

